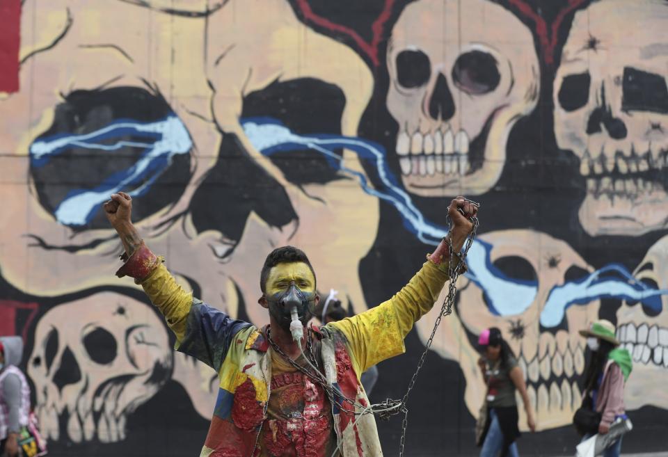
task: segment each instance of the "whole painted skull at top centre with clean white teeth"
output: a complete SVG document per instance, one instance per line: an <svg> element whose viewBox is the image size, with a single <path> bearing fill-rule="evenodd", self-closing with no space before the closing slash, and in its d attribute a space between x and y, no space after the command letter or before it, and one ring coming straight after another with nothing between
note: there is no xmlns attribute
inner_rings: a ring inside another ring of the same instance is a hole
<svg viewBox="0 0 668 457"><path fill-rule="evenodd" d="M538 100L529 29L489 1L415 1L392 29L387 65L406 189L427 197L491 189L511 128Z"/></svg>

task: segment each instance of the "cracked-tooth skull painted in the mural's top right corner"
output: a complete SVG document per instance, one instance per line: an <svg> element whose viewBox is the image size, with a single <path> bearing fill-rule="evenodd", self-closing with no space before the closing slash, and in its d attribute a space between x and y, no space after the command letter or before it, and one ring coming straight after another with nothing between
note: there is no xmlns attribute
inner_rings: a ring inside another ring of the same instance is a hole
<svg viewBox="0 0 668 457"><path fill-rule="evenodd" d="M666 227L667 42L664 1L603 0L575 14L555 77L555 136L580 159L591 235ZM638 24L629 46L628 24Z"/></svg>

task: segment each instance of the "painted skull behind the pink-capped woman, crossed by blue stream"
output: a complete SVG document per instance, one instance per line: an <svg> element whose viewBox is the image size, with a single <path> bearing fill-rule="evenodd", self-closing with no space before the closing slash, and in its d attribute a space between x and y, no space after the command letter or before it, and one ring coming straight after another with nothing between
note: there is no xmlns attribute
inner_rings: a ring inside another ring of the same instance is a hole
<svg viewBox="0 0 668 457"><path fill-rule="evenodd" d="M485 385L477 367L477 338L485 328L498 327L518 358L525 374L527 393L536 412L539 430L570 424L580 407L578 378L584 371L584 340L577 330L598 319L598 300L571 306L555 328L543 328L540 316L553 287L593 271L564 241L532 230L502 230L479 236L491 244L490 262L507 279L536 287L533 302L525 310L504 315L488 307L484 291L468 278L461 278L456 309L445 317L434 339L438 354L456 360L466 378L465 401L476 415L484 401ZM437 303L447 294L447 288ZM416 324L426 341L440 307L435 306ZM518 405L521 405L518 394ZM520 409L520 427L526 415Z"/></svg>

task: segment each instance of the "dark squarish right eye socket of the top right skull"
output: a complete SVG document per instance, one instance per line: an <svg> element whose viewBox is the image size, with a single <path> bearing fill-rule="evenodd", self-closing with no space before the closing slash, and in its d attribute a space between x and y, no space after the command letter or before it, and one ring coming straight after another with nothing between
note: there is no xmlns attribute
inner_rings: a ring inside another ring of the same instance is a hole
<svg viewBox="0 0 668 457"><path fill-rule="evenodd" d="M623 111L668 114L668 88L660 74L625 67L622 90Z"/></svg>

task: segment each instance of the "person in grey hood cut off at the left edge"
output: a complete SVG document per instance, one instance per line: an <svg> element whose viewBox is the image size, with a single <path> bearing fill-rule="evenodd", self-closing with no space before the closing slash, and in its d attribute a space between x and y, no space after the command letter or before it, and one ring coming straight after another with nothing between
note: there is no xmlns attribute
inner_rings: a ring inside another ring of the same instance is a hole
<svg viewBox="0 0 668 457"><path fill-rule="evenodd" d="M29 422L30 387L17 367L22 355L21 337L0 337L0 456L19 455L19 431Z"/></svg>

